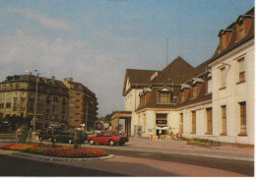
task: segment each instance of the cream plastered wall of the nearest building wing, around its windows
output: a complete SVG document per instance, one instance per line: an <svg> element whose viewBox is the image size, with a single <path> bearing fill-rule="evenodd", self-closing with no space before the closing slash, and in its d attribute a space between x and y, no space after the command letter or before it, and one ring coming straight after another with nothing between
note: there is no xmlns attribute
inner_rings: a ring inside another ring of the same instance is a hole
<svg viewBox="0 0 256 178"><path fill-rule="evenodd" d="M245 83L238 83L239 66L237 60L244 57ZM228 54L224 55L212 68L213 74L213 118L214 134L222 133L222 105L226 105L227 136L222 136L222 142L236 142L239 144L254 144L254 42L247 42ZM230 66L224 65L228 64ZM226 88L220 89L220 68L228 69L226 75ZM240 133L240 107L239 102L246 101L246 128L247 136Z"/></svg>

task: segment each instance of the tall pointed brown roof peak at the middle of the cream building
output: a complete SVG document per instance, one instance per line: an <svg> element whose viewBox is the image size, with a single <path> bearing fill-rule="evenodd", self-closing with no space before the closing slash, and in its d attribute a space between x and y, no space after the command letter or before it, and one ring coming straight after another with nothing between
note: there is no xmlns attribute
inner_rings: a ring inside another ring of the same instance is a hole
<svg viewBox="0 0 256 178"><path fill-rule="evenodd" d="M160 71L159 76L152 81L152 85L171 85L172 82L179 85L189 79L193 69L190 64L178 56Z"/></svg>

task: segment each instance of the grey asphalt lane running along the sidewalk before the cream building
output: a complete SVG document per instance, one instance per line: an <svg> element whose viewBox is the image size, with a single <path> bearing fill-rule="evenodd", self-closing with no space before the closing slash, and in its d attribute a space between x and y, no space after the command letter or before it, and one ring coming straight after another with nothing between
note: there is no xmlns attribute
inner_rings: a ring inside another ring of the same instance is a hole
<svg viewBox="0 0 256 178"><path fill-rule="evenodd" d="M141 157L147 159L155 159L162 161L186 163L192 165L199 165L204 167L217 168L222 170L227 170L231 172L236 172L248 176L254 176L254 162L245 160L231 160L216 157L203 157L196 155L184 155L178 153L162 153L154 151L141 151L141 150L128 150L128 149L118 149L119 146L109 147L109 146L94 146L94 148L101 148L110 154L114 155L124 155L130 157Z"/></svg>

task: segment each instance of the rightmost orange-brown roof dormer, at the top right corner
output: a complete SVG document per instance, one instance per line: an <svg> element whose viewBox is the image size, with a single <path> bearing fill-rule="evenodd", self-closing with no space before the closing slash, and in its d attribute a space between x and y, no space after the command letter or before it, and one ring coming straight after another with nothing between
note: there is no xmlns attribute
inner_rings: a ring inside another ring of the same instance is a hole
<svg viewBox="0 0 256 178"><path fill-rule="evenodd" d="M236 40L243 38L249 30L251 21L251 15L240 15L235 21L236 26Z"/></svg>

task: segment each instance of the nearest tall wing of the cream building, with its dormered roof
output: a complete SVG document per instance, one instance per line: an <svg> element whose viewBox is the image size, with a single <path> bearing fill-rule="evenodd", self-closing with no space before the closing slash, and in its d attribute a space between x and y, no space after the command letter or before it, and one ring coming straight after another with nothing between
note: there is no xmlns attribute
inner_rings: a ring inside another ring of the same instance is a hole
<svg viewBox="0 0 256 178"><path fill-rule="evenodd" d="M254 145L254 8L219 33L209 66L213 76L214 135Z"/></svg>

